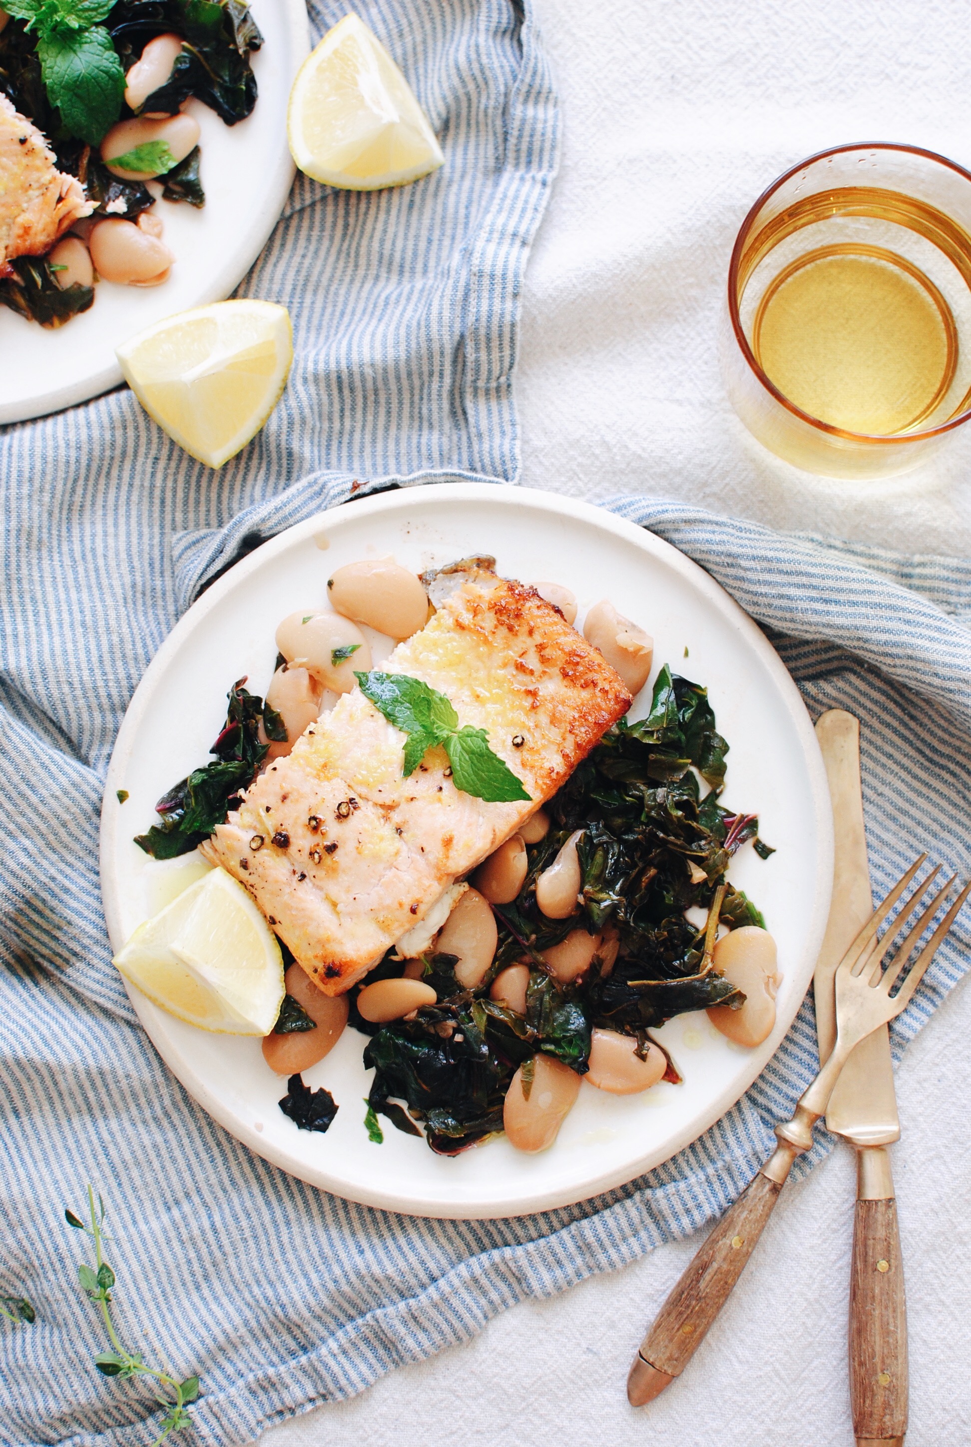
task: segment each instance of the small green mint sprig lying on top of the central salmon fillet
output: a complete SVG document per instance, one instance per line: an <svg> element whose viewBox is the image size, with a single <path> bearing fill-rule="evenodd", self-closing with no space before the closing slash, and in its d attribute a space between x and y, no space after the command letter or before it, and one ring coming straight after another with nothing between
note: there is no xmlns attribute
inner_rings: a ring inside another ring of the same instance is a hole
<svg viewBox="0 0 971 1447"><path fill-rule="evenodd" d="M360 692L370 699L389 724L407 734L404 776L408 778L436 744L444 747L451 764L456 789L486 803L530 800L512 770L489 748L483 728L466 724L459 728L459 715L444 693L428 687L421 679L407 673L355 673Z"/></svg>

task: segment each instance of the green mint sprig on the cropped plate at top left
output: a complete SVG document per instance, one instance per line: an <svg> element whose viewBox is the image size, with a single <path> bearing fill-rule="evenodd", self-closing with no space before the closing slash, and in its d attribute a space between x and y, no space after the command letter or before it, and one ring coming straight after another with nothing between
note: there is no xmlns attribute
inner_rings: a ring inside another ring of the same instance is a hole
<svg viewBox="0 0 971 1447"><path fill-rule="evenodd" d="M124 71L103 20L114 0L3 0L38 38L48 100L80 140L97 146L122 113Z"/></svg>

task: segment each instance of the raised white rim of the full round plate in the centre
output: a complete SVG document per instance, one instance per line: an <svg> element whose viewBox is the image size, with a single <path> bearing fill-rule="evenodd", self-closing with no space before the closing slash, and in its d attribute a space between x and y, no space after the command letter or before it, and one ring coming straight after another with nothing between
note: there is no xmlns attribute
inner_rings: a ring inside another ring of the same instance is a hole
<svg viewBox="0 0 971 1447"><path fill-rule="evenodd" d="M456 502L488 502L496 506L512 508L525 504L527 506L540 508L541 511L551 514L566 514L576 521L595 524L603 531L614 532L627 543L634 543L643 551L654 554L663 560L666 566L680 572L702 592L708 601L716 606L718 611L722 612L724 616L735 624L739 632L748 638L750 644L761 657L763 664L767 667L773 680L779 686L787 713L800 739L803 760L807 768L816 822L818 877L815 881L815 899L810 910L806 958L815 961L826 929L832 893L834 831L829 786L822 752L819 750L819 741L803 697L799 693L792 674L755 621L741 608L731 593L721 586L721 583L718 583L690 557L673 547L673 544L667 543L664 538L657 537L657 534L650 532L635 522L629 522L627 518L621 518L616 514L590 502L576 498L564 498L554 492L543 492L534 488L520 488L509 483L496 485L466 482L414 483L392 492L352 498L347 502L315 512L302 522L295 522L291 527L284 528L275 537L262 543L245 559L234 563L226 573L216 579L216 582L211 583L194 603L191 603L185 614L182 614L172 631L159 645L152 661L139 680L132 699L129 700L106 773L100 822L98 874L104 920L111 948L119 949L123 943L117 883L111 877L111 870L109 868L109 861L114 852L122 828L122 816L117 810L109 807L109 800L113 799L114 790L119 787L119 780L124 777L124 770L133 752L142 719L155 693L155 680L165 673L169 661L178 654L182 640L203 625L207 614L219 606L226 593L243 583L250 574L256 573L266 560L285 553L292 546L300 546L320 531L330 531L334 519L340 519L343 517L360 519L376 514L401 511L412 506L417 501L417 495L421 501L431 499L433 496L440 498L440 489L443 486L447 486L450 499ZM806 990L810 983L812 972L806 978ZM478 1210L475 1201L472 1200L454 1200L453 1204L447 1205L438 1200L421 1200L417 1197L402 1198L394 1189L355 1191L353 1188L349 1188L343 1179L336 1179L326 1169L315 1168L308 1162L295 1162L287 1150L281 1150L271 1142L263 1140L263 1137L256 1130L250 1129L246 1121L234 1116L229 1103L221 1101L213 1091L210 1091L205 1081L195 1074L188 1061L179 1059L177 1066L168 1059L168 1055L158 1045L152 1033L149 1023L150 1014L149 1010L145 1009L148 1001L143 1000L143 997L139 996L139 993L133 990L127 981L124 981L124 987L142 1027L152 1040L155 1051L166 1068L172 1071L175 1078L184 1085L192 1100L234 1140L253 1150L253 1153L260 1156L260 1159L268 1160L278 1169L285 1171L288 1175L292 1175L317 1189L330 1191L343 1200L355 1201L360 1205L436 1220L496 1220L501 1217L533 1215L538 1211L559 1210L561 1207L574 1205L580 1201L592 1200L606 1191L627 1185L629 1181L637 1179L637 1176L644 1175L647 1171L656 1169L670 1160L686 1146L690 1146L695 1140L697 1140L713 1124L716 1124L750 1090L752 1082L767 1068L786 1039L803 998L802 996L797 997L796 1006L786 1020L784 1029L768 1052L766 1052L764 1046L760 1046L752 1052L747 1069L742 1071L741 1077L738 1077L741 1087L737 1090L735 1084L732 1084L724 1090L705 1111L695 1116L690 1123L687 1123L673 1137L673 1142L669 1142L661 1147L663 1153L660 1156L657 1155L657 1150L645 1150L632 1166L625 1165L619 1169L614 1168L603 1171L596 1178L588 1181L579 1192L576 1188L547 1188L546 1192L537 1188L531 1191L528 1198L521 1192L518 1198L509 1198L501 1202L488 1202L482 1210ZM773 1035L774 1033L776 1032L773 1032ZM770 1036L770 1040L771 1039L773 1036Z"/></svg>

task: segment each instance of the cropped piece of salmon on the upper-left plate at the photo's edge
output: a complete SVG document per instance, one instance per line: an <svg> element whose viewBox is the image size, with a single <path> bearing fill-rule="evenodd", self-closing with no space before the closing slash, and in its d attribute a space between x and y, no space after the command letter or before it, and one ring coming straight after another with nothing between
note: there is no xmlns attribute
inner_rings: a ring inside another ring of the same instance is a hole
<svg viewBox="0 0 971 1447"><path fill-rule="evenodd" d="M43 135L0 94L0 276L14 256L43 256L94 203L55 165Z"/></svg>

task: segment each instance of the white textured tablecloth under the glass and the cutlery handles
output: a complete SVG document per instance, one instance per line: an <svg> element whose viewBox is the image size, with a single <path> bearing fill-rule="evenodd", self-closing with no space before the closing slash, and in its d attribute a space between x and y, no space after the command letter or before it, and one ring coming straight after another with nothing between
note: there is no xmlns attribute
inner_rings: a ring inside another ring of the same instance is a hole
<svg viewBox="0 0 971 1447"><path fill-rule="evenodd" d="M962 0L537 0L563 164L527 272L517 373L521 482L680 498L784 530L971 551L971 430L886 483L810 478L735 418L715 336L745 211L829 145L903 140L971 165ZM897 1077L894 1175L910 1320L909 1447L971 1441L971 996L959 985ZM851 1444L847 1291L854 1169L790 1188L684 1378L627 1405L641 1331L699 1242L664 1246L263 1447Z"/></svg>

